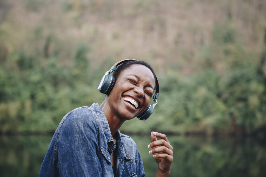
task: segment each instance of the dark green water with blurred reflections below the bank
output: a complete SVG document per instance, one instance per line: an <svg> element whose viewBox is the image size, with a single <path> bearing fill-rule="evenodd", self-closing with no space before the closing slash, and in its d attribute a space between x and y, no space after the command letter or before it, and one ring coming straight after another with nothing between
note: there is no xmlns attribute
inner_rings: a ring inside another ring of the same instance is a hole
<svg viewBox="0 0 266 177"><path fill-rule="evenodd" d="M146 176L157 163L149 136L131 136L142 154ZM0 136L0 176L38 176L52 136ZM266 176L265 140L168 136L174 148L171 176Z"/></svg>

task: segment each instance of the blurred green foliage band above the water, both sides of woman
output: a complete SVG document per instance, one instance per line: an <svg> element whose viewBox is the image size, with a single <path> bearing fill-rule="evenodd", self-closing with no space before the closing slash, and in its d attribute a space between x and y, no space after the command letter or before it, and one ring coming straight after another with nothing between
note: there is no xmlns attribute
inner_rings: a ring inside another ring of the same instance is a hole
<svg viewBox="0 0 266 177"><path fill-rule="evenodd" d="M122 130L243 134L265 127L261 66L244 56L241 46L228 45L228 39L222 41L221 48L226 51L223 58L231 62L225 73L218 75L208 66L186 77L173 70L158 75L160 98L152 118L144 123L128 121ZM203 53L207 52L206 59L210 60L215 46L207 47L210 49L205 47ZM39 61L23 51L12 53L0 72L1 131L52 132L71 109L101 103L104 96L96 88L107 68L92 68L88 52L88 46L77 44L70 68L60 66L56 56ZM113 61L106 58L106 65Z"/></svg>

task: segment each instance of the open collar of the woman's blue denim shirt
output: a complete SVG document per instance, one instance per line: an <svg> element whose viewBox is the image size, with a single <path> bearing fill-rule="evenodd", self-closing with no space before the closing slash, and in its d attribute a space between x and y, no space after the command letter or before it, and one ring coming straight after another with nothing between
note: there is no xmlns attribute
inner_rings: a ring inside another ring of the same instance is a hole
<svg viewBox="0 0 266 177"><path fill-rule="evenodd" d="M113 140L113 137L112 137L112 134L110 131L110 127L109 127L107 118L106 118L103 110L101 109L101 107L99 106L98 103L93 103L92 106L90 106L90 107L92 108L92 110L96 113L96 115L99 118L99 124L101 124L101 126L102 126L102 130L100 130L100 131L106 137L107 144L108 144L108 151L111 154L115 150L115 144L114 144L114 140ZM126 146L124 146L121 134L122 133L120 133L119 130L114 134L114 137L117 139L118 150L122 151L123 158L130 160L132 158L127 153Z"/></svg>

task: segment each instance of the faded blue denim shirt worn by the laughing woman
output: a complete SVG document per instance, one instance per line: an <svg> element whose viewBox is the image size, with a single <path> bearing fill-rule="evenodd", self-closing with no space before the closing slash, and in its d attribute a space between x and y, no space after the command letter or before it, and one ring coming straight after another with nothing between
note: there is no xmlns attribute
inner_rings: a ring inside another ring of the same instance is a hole
<svg viewBox="0 0 266 177"><path fill-rule="evenodd" d="M114 176L111 153L117 148L117 176L145 176L136 143L118 130L113 141L97 103L70 111L59 123L39 176Z"/></svg>

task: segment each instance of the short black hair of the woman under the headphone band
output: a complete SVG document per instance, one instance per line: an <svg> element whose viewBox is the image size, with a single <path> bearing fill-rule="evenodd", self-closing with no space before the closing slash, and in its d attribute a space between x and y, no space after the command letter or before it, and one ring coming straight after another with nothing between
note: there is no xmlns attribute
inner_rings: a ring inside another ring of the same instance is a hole
<svg viewBox="0 0 266 177"><path fill-rule="evenodd" d="M149 65L148 63L146 63L146 62L144 62L144 61L132 60L132 61L128 61L128 62L125 62L125 63L120 64L120 65L115 69L115 72L113 73L113 77L115 78L115 80L117 80L119 74L120 74L123 70L129 68L129 67L130 67L131 65L133 65L133 64L142 64L142 65L146 66L147 68L149 68L149 70L151 70L151 72L152 72L152 74L153 74L153 76L154 76L154 79L155 79L155 83L156 83L156 84L155 84L155 88L154 88L154 90L155 90L156 87L157 87L157 84L158 84L158 83L157 83L157 77L156 77L155 72L153 71L153 68L151 67L151 65Z"/></svg>

